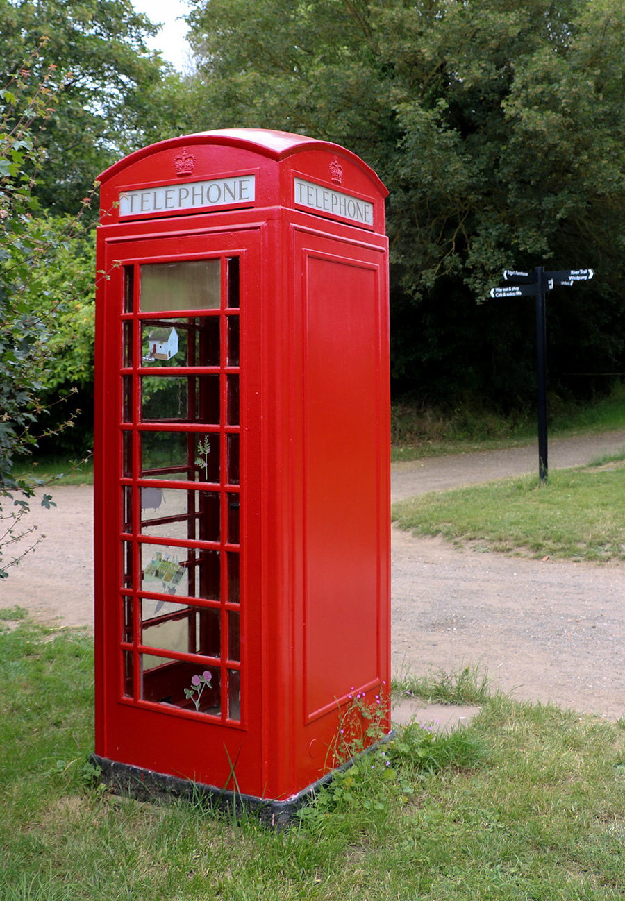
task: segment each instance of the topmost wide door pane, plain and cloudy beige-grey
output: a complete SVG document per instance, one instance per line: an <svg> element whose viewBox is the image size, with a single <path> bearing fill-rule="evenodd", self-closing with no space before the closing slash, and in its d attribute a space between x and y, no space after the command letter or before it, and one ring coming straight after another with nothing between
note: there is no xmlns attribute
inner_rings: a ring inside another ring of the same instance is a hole
<svg viewBox="0 0 625 901"><path fill-rule="evenodd" d="M139 309L142 313L219 309L220 270L219 259L144 265Z"/></svg>

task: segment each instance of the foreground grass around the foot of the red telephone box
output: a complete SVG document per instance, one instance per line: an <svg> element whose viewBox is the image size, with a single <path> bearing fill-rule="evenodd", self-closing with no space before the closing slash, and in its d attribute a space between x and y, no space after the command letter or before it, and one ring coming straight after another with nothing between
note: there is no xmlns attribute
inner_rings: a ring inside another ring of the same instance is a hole
<svg viewBox="0 0 625 901"><path fill-rule="evenodd" d="M21 615L16 612L18 617ZM273 833L97 787L86 633L0 623L1 901L616 901L625 729L494 692L413 724ZM471 668L470 668L471 669Z"/></svg>

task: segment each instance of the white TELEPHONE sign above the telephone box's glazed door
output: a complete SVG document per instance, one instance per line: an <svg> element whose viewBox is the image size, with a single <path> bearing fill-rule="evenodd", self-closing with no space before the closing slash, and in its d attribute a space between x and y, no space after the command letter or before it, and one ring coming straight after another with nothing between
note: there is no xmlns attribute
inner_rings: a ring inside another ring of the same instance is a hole
<svg viewBox="0 0 625 901"><path fill-rule="evenodd" d="M214 178L184 185L163 185L149 190L120 191L121 219L168 210L209 209L214 206L251 204L255 200L255 176Z"/></svg>

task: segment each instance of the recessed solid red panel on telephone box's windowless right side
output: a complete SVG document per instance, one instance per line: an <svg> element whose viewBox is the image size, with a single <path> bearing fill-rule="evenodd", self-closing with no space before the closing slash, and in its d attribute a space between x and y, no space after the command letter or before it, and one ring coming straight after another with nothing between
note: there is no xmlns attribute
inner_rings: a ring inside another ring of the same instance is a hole
<svg viewBox="0 0 625 901"><path fill-rule="evenodd" d="M379 272L305 253L305 678L314 716L381 678Z"/></svg>

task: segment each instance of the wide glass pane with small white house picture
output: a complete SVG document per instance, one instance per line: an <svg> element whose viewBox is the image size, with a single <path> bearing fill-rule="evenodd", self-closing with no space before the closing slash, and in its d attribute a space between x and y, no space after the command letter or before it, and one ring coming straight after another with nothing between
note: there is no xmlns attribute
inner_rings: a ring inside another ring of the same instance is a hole
<svg viewBox="0 0 625 901"><path fill-rule="evenodd" d="M142 366L219 366L219 316L150 319L141 325Z"/></svg>

